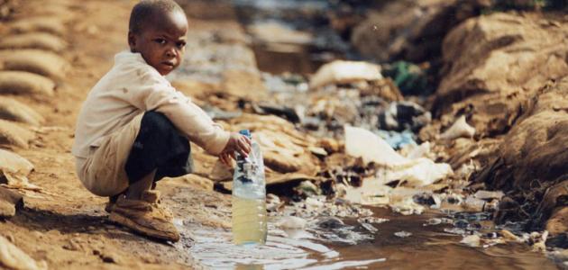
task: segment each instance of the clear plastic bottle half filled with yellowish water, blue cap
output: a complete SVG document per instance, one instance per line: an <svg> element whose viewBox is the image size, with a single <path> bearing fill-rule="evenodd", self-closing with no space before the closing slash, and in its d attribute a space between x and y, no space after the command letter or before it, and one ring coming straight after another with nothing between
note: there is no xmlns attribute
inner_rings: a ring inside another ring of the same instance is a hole
<svg viewBox="0 0 568 270"><path fill-rule="evenodd" d="M239 133L251 139L249 130ZM236 245L266 243L266 184L261 148L252 140L249 157L236 155L233 175L233 241Z"/></svg>

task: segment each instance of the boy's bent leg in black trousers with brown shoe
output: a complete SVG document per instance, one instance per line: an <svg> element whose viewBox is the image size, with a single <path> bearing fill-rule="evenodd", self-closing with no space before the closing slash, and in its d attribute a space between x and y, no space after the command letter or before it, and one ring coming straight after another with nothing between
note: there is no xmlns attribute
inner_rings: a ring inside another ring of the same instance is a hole
<svg viewBox="0 0 568 270"><path fill-rule="evenodd" d="M188 174L189 154L188 139L166 116L145 112L124 166L130 184L116 202L111 220L151 237L178 240L171 213L160 206L158 193L150 189L163 176Z"/></svg>

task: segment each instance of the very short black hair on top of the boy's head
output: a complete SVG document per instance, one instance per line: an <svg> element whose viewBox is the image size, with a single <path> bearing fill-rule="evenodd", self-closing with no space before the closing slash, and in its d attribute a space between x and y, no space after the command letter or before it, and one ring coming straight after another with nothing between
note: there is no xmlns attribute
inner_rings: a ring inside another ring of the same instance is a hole
<svg viewBox="0 0 568 270"><path fill-rule="evenodd" d="M183 12L181 6L173 0L142 0L134 5L130 14L128 31L140 33L146 23L151 23L152 16L155 14L168 14L172 12Z"/></svg>

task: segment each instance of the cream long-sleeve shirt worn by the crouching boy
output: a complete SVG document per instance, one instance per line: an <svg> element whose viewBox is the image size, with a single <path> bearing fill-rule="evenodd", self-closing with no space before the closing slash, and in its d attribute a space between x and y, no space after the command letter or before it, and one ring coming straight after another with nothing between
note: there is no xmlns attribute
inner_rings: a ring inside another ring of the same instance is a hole
<svg viewBox="0 0 568 270"><path fill-rule="evenodd" d="M164 113L190 141L211 154L219 154L229 139L229 132L172 87L140 53L123 51L116 54L115 66L87 95L71 153L86 158L89 147L99 146L106 135L152 110Z"/></svg>

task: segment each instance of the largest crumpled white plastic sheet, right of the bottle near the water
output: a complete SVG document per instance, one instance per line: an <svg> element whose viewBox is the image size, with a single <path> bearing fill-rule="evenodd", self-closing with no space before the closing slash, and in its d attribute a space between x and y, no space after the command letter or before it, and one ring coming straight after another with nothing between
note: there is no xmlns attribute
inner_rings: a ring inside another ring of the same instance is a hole
<svg viewBox="0 0 568 270"><path fill-rule="evenodd" d="M365 164L386 166L387 178L406 181L411 186L424 186L452 175L452 167L429 158L402 157L389 144L369 130L345 126L345 153L362 157Z"/></svg>

